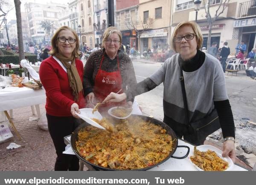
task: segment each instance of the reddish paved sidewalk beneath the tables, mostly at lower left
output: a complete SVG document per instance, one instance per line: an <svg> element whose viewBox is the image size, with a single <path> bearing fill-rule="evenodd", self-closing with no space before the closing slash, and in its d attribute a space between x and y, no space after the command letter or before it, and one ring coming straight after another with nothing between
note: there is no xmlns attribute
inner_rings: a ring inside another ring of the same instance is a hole
<svg viewBox="0 0 256 185"><path fill-rule="evenodd" d="M40 105L41 113L44 114L44 104ZM48 131L39 129L37 121L29 121L32 115L30 107L22 107L13 110L13 122L22 137L19 141L14 130L14 135L9 141L0 143L0 171L53 171L56 159L55 148ZM0 120L3 118L0 116ZM7 150L6 147L15 142L21 147ZM221 145L211 140L205 142L221 149ZM244 162L236 159L240 166L252 169ZM84 169L86 170L86 169Z"/></svg>

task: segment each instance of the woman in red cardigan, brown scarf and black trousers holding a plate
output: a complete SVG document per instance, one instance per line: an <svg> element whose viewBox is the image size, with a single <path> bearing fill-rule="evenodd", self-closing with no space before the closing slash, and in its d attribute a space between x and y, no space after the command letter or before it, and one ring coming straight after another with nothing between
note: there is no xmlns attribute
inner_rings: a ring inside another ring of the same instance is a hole
<svg viewBox="0 0 256 185"><path fill-rule="evenodd" d="M55 171L79 170L79 159L63 154L64 136L78 125L83 97L83 64L79 57L79 38L68 26L59 28L52 37L52 51L40 66L40 80L46 91L46 116L49 133L56 149Z"/></svg>

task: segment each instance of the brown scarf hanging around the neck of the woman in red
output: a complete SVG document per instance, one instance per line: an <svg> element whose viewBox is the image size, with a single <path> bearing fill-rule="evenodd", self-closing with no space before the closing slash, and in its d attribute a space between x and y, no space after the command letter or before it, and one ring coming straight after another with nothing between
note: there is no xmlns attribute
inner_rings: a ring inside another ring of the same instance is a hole
<svg viewBox="0 0 256 185"><path fill-rule="evenodd" d="M76 69L75 56L73 55L71 58L64 57L59 53L55 54L61 63L67 68L68 81L70 83L70 87L73 91L73 96L75 101L78 102L79 96L83 94L83 84L81 82L81 78ZM71 64L69 63L71 61Z"/></svg>

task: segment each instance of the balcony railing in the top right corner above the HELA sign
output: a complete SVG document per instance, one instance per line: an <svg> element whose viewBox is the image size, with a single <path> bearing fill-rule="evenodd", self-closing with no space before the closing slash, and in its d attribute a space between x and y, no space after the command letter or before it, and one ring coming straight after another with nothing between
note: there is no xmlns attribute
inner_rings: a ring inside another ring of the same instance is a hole
<svg viewBox="0 0 256 185"><path fill-rule="evenodd" d="M239 3L237 17L248 17L256 15L256 0Z"/></svg>

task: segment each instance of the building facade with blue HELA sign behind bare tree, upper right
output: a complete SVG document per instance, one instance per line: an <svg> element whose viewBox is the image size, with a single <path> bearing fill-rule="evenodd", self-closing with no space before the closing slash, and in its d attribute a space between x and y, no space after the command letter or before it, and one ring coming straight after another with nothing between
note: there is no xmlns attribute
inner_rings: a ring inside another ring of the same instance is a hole
<svg viewBox="0 0 256 185"><path fill-rule="evenodd" d="M220 0L211 1L209 10L212 17L214 17L220 3ZM227 8L213 23L211 44L217 42L218 47L222 47L223 43L227 41L231 54L235 54L237 44L244 41L247 45L247 50L244 52L250 52L250 50L256 46L256 27L253 27L256 26L253 25L253 18L256 17L256 9L254 7L255 0L230 0ZM172 30L181 21L195 21L194 1L175 0L173 12ZM204 47L207 46L207 38L209 34L209 24L207 23L205 16L206 13L202 2L201 9L198 11L197 23L201 27L203 33Z"/></svg>

